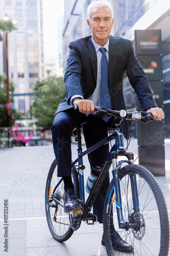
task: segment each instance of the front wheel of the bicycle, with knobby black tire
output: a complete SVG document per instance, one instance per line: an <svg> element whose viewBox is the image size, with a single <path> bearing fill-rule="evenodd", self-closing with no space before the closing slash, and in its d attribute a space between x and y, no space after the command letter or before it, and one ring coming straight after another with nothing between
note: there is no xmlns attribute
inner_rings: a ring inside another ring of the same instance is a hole
<svg viewBox="0 0 170 256"><path fill-rule="evenodd" d="M133 201L130 175L135 174L137 180L140 214L133 214ZM111 181L104 206L104 239L107 254L111 255L140 255L167 256L169 249L169 222L165 200L161 188L155 177L140 165L130 164L120 169L120 190L122 210L125 222L129 216L139 220L140 231L130 228L119 229L116 204L114 198L114 184ZM113 208L111 211L111 207ZM112 214L111 214L112 213ZM112 216L111 216L112 215ZM113 220L112 220L113 218ZM118 252L111 243L110 223L113 221L115 230L120 237L131 244L134 250Z"/></svg>

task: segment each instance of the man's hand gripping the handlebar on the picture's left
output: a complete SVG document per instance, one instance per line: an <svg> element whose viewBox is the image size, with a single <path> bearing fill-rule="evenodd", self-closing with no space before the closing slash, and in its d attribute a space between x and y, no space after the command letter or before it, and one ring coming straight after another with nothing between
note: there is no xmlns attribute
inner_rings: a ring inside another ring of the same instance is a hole
<svg viewBox="0 0 170 256"><path fill-rule="evenodd" d="M92 100L76 98L73 105L78 105L79 111L83 114L88 114L94 111L94 103Z"/></svg>

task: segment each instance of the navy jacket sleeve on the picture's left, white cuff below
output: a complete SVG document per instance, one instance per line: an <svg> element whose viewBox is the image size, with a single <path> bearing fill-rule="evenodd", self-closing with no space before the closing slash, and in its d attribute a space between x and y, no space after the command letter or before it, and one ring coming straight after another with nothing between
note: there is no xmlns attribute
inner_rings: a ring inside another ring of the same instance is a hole
<svg viewBox="0 0 170 256"><path fill-rule="evenodd" d="M75 42L70 42L69 55L64 75L66 101L68 104L70 104L70 98L74 95L81 95L83 97L81 72L82 62L80 52L78 51Z"/></svg>

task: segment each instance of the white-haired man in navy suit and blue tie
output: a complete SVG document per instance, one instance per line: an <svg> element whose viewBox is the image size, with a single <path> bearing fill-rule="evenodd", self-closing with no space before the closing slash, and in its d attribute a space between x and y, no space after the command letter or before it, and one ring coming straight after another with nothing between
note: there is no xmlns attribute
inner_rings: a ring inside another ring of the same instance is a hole
<svg viewBox="0 0 170 256"><path fill-rule="evenodd" d="M58 163L58 176L63 177L65 189L64 211L80 209L71 181L71 131L78 123L86 120L84 137L87 148L107 137L107 126L111 120L94 116L86 118L94 111L94 105L112 109L126 109L123 96L123 74L126 71L132 87L137 93L143 110L152 113L155 119L164 117L157 108L152 92L138 60L135 58L130 40L112 37L110 32L114 23L113 13L107 1L92 2L87 11L87 25L92 36L80 38L69 44L69 56L65 70L66 98L60 103L52 127L54 152ZM103 65L104 61L107 65ZM103 72L103 68L105 72ZM108 77L107 77L108 75ZM104 78L105 77L105 78ZM105 84L103 84L105 80ZM103 90L103 86L105 91ZM79 106L79 112L73 106ZM122 122L123 132L127 137L128 126ZM64 143L63 143L64 142ZM109 145L104 145L88 157L90 165L102 166L108 155ZM100 194L93 205L93 212L103 222L103 207L109 184L109 174ZM118 236L112 229L113 247L120 251L131 251L133 247ZM104 239L102 238L102 244Z"/></svg>

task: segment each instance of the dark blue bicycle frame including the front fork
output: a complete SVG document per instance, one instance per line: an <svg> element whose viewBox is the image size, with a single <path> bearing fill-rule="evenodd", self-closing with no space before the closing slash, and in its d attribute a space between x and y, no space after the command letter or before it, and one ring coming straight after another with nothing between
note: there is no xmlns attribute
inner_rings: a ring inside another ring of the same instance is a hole
<svg viewBox="0 0 170 256"><path fill-rule="evenodd" d="M74 162L72 162L71 167L74 166L78 162L79 183L80 183L80 200L82 201L83 208L84 208L83 214L82 214L82 219L86 219L88 217L89 211L92 208L94 200L96 199L96 197L99 194L101 186L104 184L104 181L107 177L110 166L111 166L111 164L113 165L113 170L112 170L113 181L114 181L113 189L114 189L115 198L116 198L115 202L116 202L116 210L117 210L117 218L118 218L119 228L129 228L129 226L127 226L127 223L124 222L124 217L123 217L123 212L122 212L122 199L121 199L120 184L119 184L119 170L123 163L132 164L134 157L133 157L132 153L127 153L124 150L123 134L122 134L122 129L120 127L120 121L121 120L117 120L113 134L109 135L108 137L106 137L102 141L96 143L95 145L91 146L84 152L82 151L82 143L81 143L81 127L82 127L83 123L80 124L76 128L77 129L77 137L75 139L78 142L78 158ZM112 146L112 148L108 154L108 157L102 166L99 177L96 180L96 182L91 190L91 193L89 194L89 196L87 198L87 201L85 202L85 194L84 194L84 169L85 169L85 166L83 165L83 156L96 150L96 148L99 148L100 146L103 146L103 145L109 143L113 139L115 139L115 144ZM128 160L119 161L117 164L118 156L126 156ZM136 176L131 175L130 178L131 178L131 186L132 186L134 212L136 212L136 211L139 211ZM59 183L54 188L53 195L55 194L55 190L57 189L57 187L61 183L61 181L62 181L62 179L59 181ZM111 191L111 193L112 193L112 191ZM55 199L54 197L53 197L53 200L56 203L59 203L60 205L63 206L63 204L60 201L58 201L57 199Z"/></svg>

